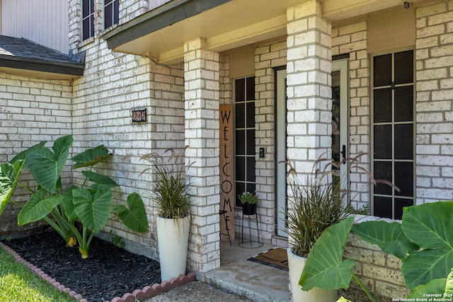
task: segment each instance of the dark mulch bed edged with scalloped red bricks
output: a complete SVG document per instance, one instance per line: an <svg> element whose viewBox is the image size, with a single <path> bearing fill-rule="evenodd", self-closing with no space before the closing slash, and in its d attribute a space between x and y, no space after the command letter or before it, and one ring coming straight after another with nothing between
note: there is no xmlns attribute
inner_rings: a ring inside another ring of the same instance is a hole
<svg viewBox="0 0 453 302"><path fill-rule="evenodd" d="M2 242L88 301L110 301L161 283L159 262L99 238L93 238L87 259L78 248L67 248L55 231Z"/></svg>

